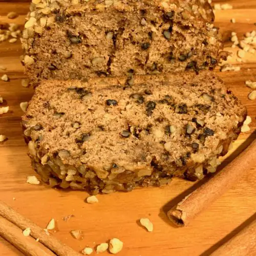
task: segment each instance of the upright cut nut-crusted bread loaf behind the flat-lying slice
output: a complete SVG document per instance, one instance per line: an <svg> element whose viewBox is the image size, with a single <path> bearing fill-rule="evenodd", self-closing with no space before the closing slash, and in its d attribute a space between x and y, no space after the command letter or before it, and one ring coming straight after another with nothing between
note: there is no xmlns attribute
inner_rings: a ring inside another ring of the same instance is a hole
<svg viewBox="0 0 256 256"><path fill-rule="evenodd" d="M40 79L213 69L225 58L202 0L33 0L22 63Z"/></svg>

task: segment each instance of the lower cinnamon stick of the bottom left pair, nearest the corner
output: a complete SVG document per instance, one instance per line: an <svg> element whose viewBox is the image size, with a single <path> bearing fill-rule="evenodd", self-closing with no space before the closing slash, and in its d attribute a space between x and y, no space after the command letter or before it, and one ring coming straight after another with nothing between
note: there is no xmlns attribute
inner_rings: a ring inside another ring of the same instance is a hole
<svg viewBox="0 0 256 256"><path fill-rule="evenodd" d="M9 243L13 244L17 249L28 256L53 256L56 255L46 247L40 248L38 242L31 237L24 237L22 229L15 226L10 221L0 216L0 236Z"/></svg>

